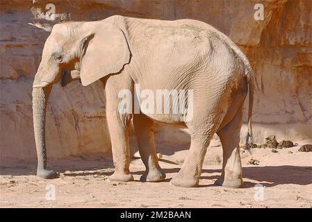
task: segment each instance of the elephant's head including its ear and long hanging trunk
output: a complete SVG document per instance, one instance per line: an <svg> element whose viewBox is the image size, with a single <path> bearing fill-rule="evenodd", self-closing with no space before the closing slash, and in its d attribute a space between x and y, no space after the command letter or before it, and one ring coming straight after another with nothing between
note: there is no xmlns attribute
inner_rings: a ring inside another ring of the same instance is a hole
<svg viewBox="0 0 312 222"><path fill-rule="evenodd" d="M55 178L47 171L45 114L52 85L65 86L74 79L82 85L120 72L129 63L131 52L126 35L117 24L74 22L56 24L44 44L42 60L33 81L33 128L38 155L37 175Z"/></svg>

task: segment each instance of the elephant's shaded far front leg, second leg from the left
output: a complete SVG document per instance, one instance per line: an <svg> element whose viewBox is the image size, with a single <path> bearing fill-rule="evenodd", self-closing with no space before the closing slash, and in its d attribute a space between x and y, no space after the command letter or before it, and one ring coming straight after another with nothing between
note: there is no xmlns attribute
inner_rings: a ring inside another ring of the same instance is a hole
<svg viewBox="0 0 312 222"><path fill-rule="evenodd" d="M136 130L138 148L145 164L146 171L141 176L140 181L158 182L165 179L165 173L158 164L156 155L153 121L144 114L133 115L133 126Z"/></svg>

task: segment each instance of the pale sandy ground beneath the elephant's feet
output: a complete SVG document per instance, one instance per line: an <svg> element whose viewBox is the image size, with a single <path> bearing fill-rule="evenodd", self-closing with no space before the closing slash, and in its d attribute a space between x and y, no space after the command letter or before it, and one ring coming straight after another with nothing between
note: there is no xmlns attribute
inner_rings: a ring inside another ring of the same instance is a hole
<svg viewBox="0 0 312 222"><path fill-rule="evenodd" d="M212 146L197 188L169 185L187 151L163 155L160 164L167 178L156 183L138 181L145 169L140 159L131 161L134 182L109 182L113 165L102 157L49 160L60 172L54 180L34 176L35 162L6 160L1 163L1 207L312 207L312 153L298 152L299 146L278 153L270 148L241 151L245 188L228 189L213 184L221 173L222 148ZM259 164L247 164L251 158ZM53 198L51 187L55 200L46 199Z"/></svg>

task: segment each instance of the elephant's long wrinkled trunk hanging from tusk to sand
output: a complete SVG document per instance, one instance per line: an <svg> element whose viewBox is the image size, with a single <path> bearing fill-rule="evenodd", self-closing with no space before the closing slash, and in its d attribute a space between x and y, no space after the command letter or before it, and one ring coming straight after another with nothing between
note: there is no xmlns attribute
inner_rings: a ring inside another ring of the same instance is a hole
<svg viewBox="0 0 312 222"><path fill-rule="evenodd" d="M55 171L48 171L46 169L45 115L51 88L51 85L33 88L33 129L38 157L37 176L44 179L56 178L58 176L58 173Z"/></svg>

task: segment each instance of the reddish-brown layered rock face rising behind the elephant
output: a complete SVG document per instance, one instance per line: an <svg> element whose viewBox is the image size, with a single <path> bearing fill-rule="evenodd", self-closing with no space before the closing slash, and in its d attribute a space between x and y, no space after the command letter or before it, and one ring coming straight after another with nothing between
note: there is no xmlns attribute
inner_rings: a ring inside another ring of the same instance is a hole
<svg viewBox="0 0 312 222"><path fill-rule="evenodd" d="M1 158L35 157L31 86L51 26L115 14L197 19L215 26L240 46L254 69L255 141L263 142L273 133L280 139L311 138L311 1L263 1L263 21L254 19L254 4L235 0L1 1ZM55 85L48 104L47 126L49 157L109 151L101 83L89 87L82 87L79 82L64 88ZM245 132L243 126L242 140ZM188 135L176 128L158 126L156 143L187 148ZM163 150L162 153L167 154Z"/></svg>

